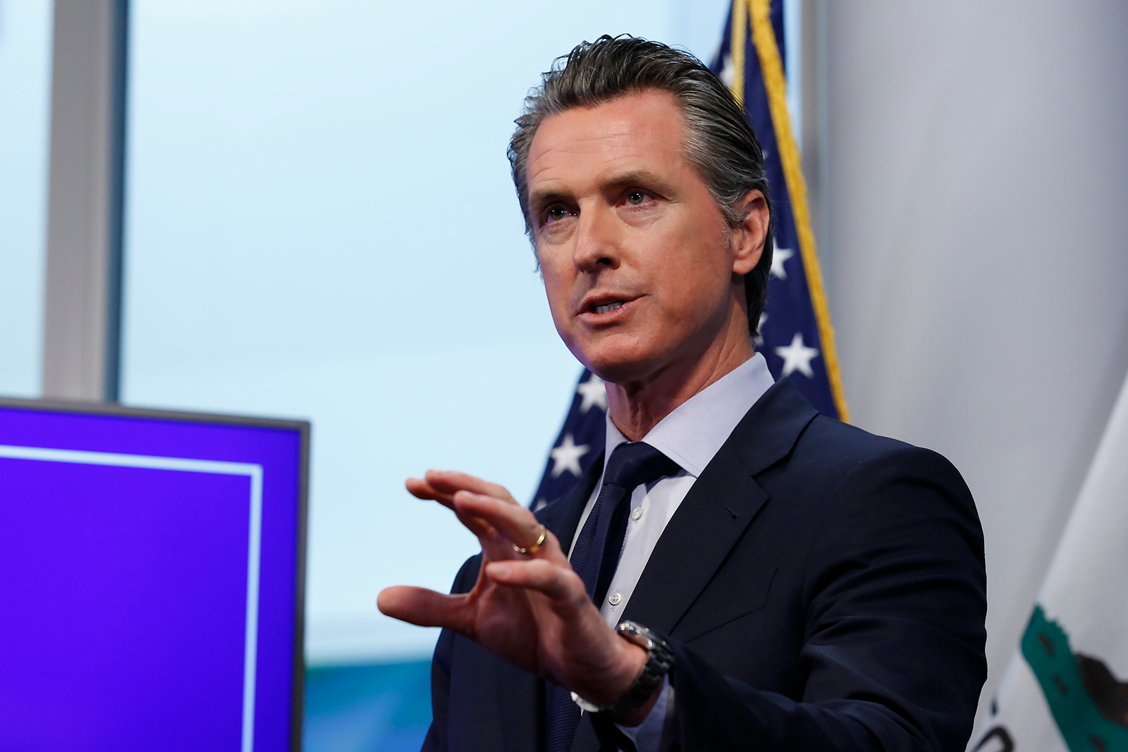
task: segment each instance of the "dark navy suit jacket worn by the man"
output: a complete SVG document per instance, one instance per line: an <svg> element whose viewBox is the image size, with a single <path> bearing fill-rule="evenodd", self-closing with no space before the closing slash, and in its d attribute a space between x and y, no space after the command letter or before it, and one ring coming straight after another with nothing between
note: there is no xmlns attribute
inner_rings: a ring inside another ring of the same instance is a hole
<svg viewBox="0 0 1128 752"><path fill-rule="evenodd" d="M538 515L565 546L601 468ZM982 532L955 468L820 416L782 380L694 484L623 617L669 637L687 752L962 752L986 611ZM431 681L424 750L544 749L543 680L443 631ZM584 714L572 750L600 738Z"/></svg>

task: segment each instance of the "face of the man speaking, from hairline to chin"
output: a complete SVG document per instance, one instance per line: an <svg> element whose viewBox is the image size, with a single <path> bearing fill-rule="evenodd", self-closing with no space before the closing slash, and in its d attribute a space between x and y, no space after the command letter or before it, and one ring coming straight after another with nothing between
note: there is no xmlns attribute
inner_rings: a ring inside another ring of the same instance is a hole
<svg viewBox="0 0 1128 752"><path fill-rule="evenodd" d="M700 359L733 326L739 275L759 258L733 253L685 138L673 97L650 90L553 115L530 148L529 212L556 330L615 383Z"/></svg>

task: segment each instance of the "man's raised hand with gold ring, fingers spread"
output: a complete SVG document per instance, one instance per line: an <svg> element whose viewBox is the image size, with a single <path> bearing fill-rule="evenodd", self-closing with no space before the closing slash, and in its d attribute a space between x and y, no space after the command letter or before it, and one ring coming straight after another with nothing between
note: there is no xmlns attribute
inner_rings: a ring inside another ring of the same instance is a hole
<svg viewBox="0 0 1128 752"><path fill-rule="evenodd" d="M511 663L597 704L618 699L642 672L646 653L606 625L550 532L529 554L541 527L505 488L462 472L430 470L407 480L412 495L452 510L482 545L469 593L388 587L380 611L465 635Z"/></svg>

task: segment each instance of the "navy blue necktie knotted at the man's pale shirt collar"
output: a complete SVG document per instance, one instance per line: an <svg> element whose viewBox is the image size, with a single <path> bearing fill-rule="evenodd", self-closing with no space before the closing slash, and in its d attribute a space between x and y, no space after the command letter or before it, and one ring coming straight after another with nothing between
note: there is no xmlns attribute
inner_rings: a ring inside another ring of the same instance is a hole
<svg viewBox="0 0 1128 752"><path fill-rule="evenodd" d="M636 441L619 444L611 452L588 520L572 549L572 568L583 580L588 595L601 607L619 565L627 532L627 507L632 492L662 476L673 475L678 465L650 444ZM580 724L580 707L566 689L547 683L548 752L569 752Z"/></svg>

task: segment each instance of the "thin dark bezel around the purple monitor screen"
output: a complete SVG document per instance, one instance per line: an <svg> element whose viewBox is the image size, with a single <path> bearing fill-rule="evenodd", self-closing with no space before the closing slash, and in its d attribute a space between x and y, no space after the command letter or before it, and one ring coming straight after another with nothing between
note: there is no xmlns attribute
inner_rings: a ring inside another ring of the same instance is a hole
<svg viewBox="0 0 1128 752"><path fill-rule="evenodd" d="M290 750L301 752L302 716L306 692L306 545L309 507L309 421L287 418L263 418L250 415L224 415L220 413L194 413L149 407L127 407L116 402L92 402L68 399L23 399L0 397L0 407L43 410L49 413L82 413L94 415L120 415L155 421L182 421L185 423L218 423L223 425L254 426L297 431L301 437L300 468L298 471L298 556L294 573L294 645L293 645L293 692L290 709Z"/></svg>

